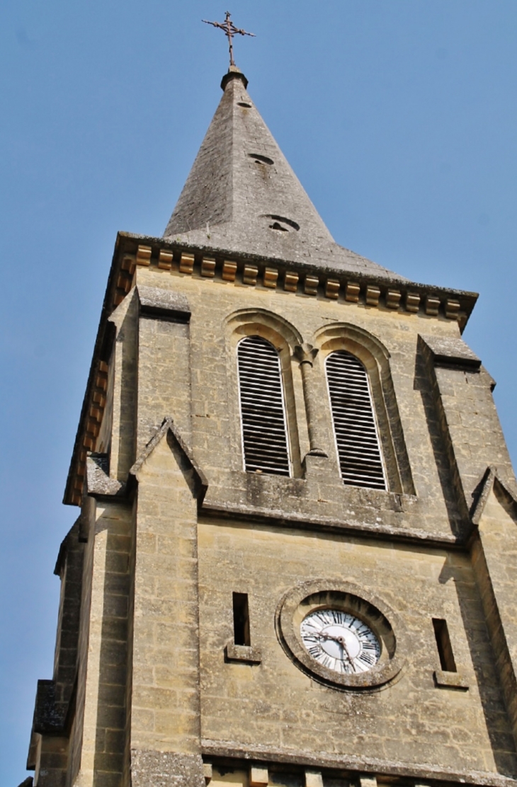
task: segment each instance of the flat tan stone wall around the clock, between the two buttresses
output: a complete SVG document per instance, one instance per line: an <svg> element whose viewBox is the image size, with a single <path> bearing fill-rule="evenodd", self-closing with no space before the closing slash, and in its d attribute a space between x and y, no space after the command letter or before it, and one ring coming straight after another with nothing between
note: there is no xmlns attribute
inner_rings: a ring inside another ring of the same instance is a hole
<svg viewBox="0 0 517 787"><path fill-rule="evenodd" d="M277 639L277 605L300 581L348 580L404 623L407 663L395 685L343 692L314 682ZM247 593L262 662L226 663L232 592ZM378 540L203 519L199 526L203 741L294 756L432 764L515 774L517 758L468 556ZM437 687L432 619L446 619L467 690ZM223 744L225 742L225 744Z"/></svg>

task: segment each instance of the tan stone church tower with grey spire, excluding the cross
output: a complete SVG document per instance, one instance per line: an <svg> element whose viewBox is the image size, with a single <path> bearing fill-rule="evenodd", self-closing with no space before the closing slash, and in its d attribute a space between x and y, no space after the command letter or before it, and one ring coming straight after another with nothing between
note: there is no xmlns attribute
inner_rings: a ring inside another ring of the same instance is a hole
<svg viewBox="0 0 517 787"><path fill-rule="evenodd" d="M38 787L517 785L517 486L476 295L338 246L230 68L120 233Z"/></svg>

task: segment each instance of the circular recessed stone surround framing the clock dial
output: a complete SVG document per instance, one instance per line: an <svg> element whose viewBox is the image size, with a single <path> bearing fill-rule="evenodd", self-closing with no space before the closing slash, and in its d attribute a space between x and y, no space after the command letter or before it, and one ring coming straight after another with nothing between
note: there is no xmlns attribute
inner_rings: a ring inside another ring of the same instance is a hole
<svg viewBox="0 0 517 787"><path fill-rule="evenodd" d="M314 659L303 644L300 626L314 611L348 612L373 631L381 648L377 663L361 673L340 673ZM396 678L404 666L403 627L384 601L354 582L315 579L285 594L277 607L277 634L288 656L311 677L343 689L374 689Z"/></svg>

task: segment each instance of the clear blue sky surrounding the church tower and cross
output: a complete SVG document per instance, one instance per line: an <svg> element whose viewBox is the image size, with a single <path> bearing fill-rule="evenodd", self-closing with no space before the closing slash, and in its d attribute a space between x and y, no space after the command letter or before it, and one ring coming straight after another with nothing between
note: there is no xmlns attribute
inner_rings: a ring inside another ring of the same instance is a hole
<svg viewBox="0 0 517 787"><path fill-rule="evenodd" d="M4 0L0 784L50 678L61 505L117 230L161 235L220 98L214 0ZM464 336L515 419L517 2L232 0L249 91L340 242L481 293Z"/></svg>

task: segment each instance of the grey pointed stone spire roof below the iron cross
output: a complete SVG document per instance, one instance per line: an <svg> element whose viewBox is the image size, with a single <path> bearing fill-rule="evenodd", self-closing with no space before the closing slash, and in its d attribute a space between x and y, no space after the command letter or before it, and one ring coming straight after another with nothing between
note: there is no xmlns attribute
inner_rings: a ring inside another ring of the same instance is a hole
<svg viewBox="0 0 517 787"><path fill-rule="evenodd" d="M221 87L164 238L392 277L333 240L251 101L244 74L231 67Z"/></svg>

